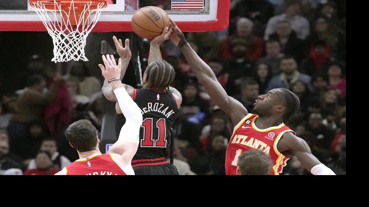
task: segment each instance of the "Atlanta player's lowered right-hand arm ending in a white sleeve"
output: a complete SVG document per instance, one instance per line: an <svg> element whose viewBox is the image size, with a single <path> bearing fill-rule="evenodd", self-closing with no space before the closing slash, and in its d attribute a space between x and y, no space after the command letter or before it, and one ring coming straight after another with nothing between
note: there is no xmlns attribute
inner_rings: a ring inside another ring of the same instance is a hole
<svg viewBox="0 0 369 207"><path fill-rule="evenodd" d="M304 166L313 175L335 175L335 173L322 164L313 154L306 141L293 135L292 133L283 134L277 144L277 150L292 154L299 159L301 165Z"/></svg>

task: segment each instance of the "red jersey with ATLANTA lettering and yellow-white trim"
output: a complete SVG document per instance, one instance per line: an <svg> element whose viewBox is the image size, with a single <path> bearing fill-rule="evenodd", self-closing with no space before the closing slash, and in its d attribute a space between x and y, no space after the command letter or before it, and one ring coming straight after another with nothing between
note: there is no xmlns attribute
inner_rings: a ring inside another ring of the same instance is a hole
<svg viewBox="0 0 369 207"><path fill-rule="evenodd" d="M292 132L284 123L268 129L258 129L255 119L258 115L249 113L235 126L225 157L225 173L236 175L238 156L249 149L258 149L269 154L273 169L271 175L279 175L289 159L277 150L280 138L286 132Z"/></svg>

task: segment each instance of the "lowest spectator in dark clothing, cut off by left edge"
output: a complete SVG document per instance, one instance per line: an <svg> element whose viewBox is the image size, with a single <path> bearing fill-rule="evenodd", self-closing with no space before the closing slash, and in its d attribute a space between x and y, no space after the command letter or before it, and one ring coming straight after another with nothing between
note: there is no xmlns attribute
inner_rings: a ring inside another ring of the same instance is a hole
<svg viewBox="0 0 369 207"><path fill-rule="evenodd" d="M21 169L22 166L10 157L9 143L7 141L0 140L0 175L3 175L4 171L11 168Z"/></svg>

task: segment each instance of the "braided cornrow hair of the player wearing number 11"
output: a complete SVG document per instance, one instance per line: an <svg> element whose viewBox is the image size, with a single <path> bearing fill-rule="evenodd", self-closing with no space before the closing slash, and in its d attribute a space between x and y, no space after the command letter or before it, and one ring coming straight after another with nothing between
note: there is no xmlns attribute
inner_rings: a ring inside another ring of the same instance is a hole
<svg viewBox="0 0 369 207"><path fill-rule="evenodd" d="M147 77L150 87L169 92L169 85L173 83L176 72L172 65L165 60L155 60L147 67Z"/></svg>

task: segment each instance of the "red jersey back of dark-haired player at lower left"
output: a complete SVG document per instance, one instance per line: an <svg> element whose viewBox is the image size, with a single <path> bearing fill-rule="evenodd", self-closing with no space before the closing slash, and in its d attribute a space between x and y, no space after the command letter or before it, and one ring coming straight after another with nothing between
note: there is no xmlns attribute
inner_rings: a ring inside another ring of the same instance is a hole
<svg viewBox="0 0 369 207"><path fill-rule="evenodd" d="M63 168L64 175L126 175L112 154L94 154Z"/></svg>

